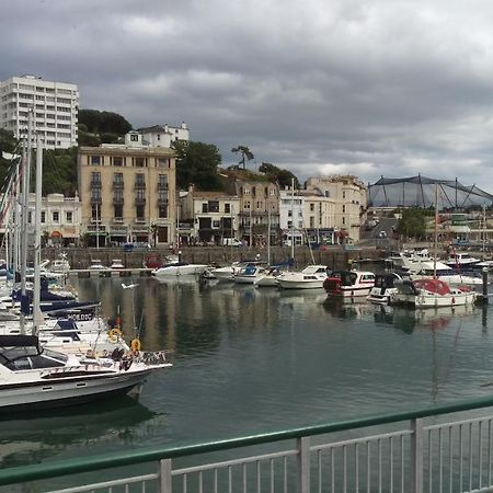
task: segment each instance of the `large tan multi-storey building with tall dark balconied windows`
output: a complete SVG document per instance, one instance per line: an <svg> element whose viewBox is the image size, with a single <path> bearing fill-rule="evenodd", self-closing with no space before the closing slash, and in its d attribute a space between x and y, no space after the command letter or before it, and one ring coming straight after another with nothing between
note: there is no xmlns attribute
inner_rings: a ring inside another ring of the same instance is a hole
<svg viewBox="0 0 493 493"><path fill-rule="evenodd" d="M82 228L90 244L172 244L176 236L175 154L130 131L124 145L81 147Z"/></svg>

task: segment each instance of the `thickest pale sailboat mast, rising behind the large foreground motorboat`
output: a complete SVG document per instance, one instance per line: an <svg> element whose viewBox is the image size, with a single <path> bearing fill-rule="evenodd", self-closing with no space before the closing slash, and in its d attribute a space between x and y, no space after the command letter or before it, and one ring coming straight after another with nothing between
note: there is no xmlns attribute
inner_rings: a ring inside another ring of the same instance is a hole
<svg viewBox="0 0 493 493"><path fill-rule="evenodd" d="M39 332L43 322L41 314L41 209L43 183L43 147L38 135L36 138L36 202L34 209L34 286L33 286L33 335Z"/></svg>

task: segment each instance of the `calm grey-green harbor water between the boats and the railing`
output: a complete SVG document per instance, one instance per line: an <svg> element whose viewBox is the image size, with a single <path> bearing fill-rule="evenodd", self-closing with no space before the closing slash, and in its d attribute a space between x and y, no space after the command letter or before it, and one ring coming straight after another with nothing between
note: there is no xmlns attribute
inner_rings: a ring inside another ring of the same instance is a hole
<svg viewBox="0 0 493 493"><path fill-rule="evenodd" d="M138 402L113 399L0 421L2 468L242 436L493 392L493 307L413 311L341 303L323 289L195 278L74 279L119 307L124 334L170 352ZM134 329L136 326L136 330Z"/></svg>

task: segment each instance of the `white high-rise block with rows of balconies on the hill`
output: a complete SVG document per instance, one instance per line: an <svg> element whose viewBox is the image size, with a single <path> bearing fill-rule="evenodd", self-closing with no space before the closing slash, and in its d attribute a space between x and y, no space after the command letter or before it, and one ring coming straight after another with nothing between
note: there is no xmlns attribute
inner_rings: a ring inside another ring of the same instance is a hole
<svg viewBox="0 0 493 493"><path fill-rule="evenodd" d="M35 76L11 77L0 82L0 128L16 138L27 135L27 113L45 147L77 146L79 91L76 84L49 82Z"/></svg>

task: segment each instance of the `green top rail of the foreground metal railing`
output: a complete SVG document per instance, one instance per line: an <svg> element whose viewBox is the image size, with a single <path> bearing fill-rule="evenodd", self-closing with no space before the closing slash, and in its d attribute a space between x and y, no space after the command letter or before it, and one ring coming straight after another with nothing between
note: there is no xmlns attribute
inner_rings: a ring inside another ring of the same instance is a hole
<svg viewBox="0 0 493 493"><path fill-rule="evenodd" d="M265 432L256 435L226 438L208 443L164 445L161 447L124 450L118 452L73 458L53 462L48 461L37 465L14 467L1 470L0 485L35 481L67 474L77 474L136 463L152 462L161 459L172 459L176 457L206 454L231 448L248 447L270 442L289 440L303 436L314 436L326 433L343 432L347 429L364 428L368 426L398 423L402 421L436 416L439 414L450 414L490 406L493 406L493 395L483 399L456 402L452 404L432 408L423 408L413 411L400 411L389 414L341 421L336 423L301 426L285 431Z"/></svg>

